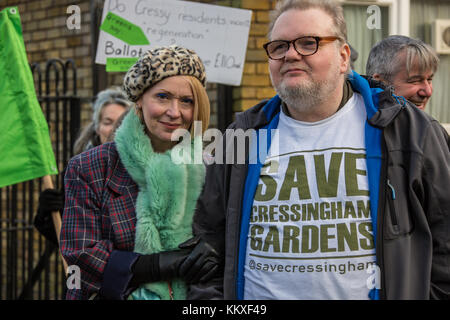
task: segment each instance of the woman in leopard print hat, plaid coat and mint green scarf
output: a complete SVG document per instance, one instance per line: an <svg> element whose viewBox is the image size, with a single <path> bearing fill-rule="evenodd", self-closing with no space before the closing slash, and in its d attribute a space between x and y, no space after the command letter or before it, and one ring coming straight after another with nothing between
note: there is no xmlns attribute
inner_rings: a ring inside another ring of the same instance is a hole
<svg viewBox="0 0 450 320"><path fill-rule="evenodd" d="M189 136L193 146L201 139L194 121L202 133L208 128L205 68L192 50L155 48L130 68L123 87L134 110L114 142L74 157L65 176L61 252L83 279L67 298L185 299L186 283L211 279L220 258L192 238L204 165L172 157L180 152L177 129L186 134L180 146Z"/></svg>

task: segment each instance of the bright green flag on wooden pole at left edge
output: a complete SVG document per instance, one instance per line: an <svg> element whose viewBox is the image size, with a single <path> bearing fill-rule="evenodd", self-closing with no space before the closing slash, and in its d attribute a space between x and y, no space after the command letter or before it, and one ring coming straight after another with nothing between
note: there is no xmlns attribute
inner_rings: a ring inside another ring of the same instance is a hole
<svg viewBox="0 0 450 320"><path fill-rule="evenodd" d="M0 74L0 188L57 174L17 7L0 12Z"/></svg>

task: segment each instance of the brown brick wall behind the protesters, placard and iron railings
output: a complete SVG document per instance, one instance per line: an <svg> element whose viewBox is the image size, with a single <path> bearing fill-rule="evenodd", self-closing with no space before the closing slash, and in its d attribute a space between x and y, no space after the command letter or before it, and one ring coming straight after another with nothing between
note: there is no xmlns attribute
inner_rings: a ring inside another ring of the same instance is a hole
<svg viewBox="0 0 450 320"><path fill-rule="evenodd" d="M94 1L94 0L92 0ZM198 2L208 2L216 5L224 5L235 8L245 8L253 10L252 24L250 30L250 37L248 42L248 50L246 56L246 62L244 65L244 75L242 85L233 88L233 111L245 110L261 99L270 98L274 92L270 86L270 80L267 70L267 58L262 49L262 44L266 41L266 31L268 22L268 11L273 7L274 0L203 0ZM66 20L69 17L67 14L67 7L69 5L78 5L81 9L81 29L69 30L66 26ZM92 98L93 92L93 61L95 52L92 52L91 42L93 41L91 32L91 14L90 14L90 1L82 0L3 0L0 2L0 10L9 6L17 6L22 19L23 37L25 47L27 50L28 61L30 63L39 63L41 70L45 69L45 63L49 59L73 59L77 67L77 93L82 98L85 98L85 102L82 105L82 125L90 121L92 110L89 100ZM97 31L98 32L98 31ZM106 86L120 85L123 79L123 73L109 73L106 78ZM211 99L212 116L211 125L217 123L217 85L208 84L208 95ZM52 137L53 138L53 137ZM60 168L62 170L62 167ZM22 190L25 185L19 184L18 190L22 194ZM38 189L40 184L35 183L34 189L31 192L30 203L33 206L24 208L20 203L22 198L19 196L18 201L18 213L15 216L14 221L21 221L21 223L27 228L31 227L32 219L35 215L35 209L37 206ZM9 187L8 187L9 190ZM8 191L6 190L6 191ZM7 214L7 210L3 208L5 205L9 205L7 201L7 193L0 190L0 208L2 226L6 226L8 221L3 213ZM25 211L27 216L25 217ZM31 227L32 228L32 227ZM32 229L30 234L23 233L22 236L17 238L17 243L25 246L30 242L27 237L33 237L31 240L33 249L32 256L23 258L19 256L18 261L21 261L21 265L13 265L9 267L6 265L6 256L9 254L4 246L6 242L6 233L2 233L0 237L0 254L2 255L2 264L0 264L0 275L2 279L6 279L6 269L14 268L14 272L17 277L22 274L20 270L25 270L25 261L34 266L39 255L43 249L43 238L39 237L37 241L37 231ZM22 234L22 233L21 233ZM54 260L51 261L49 272L55 277L45 278L45 283L53 282L54 279L58 279L58 275L61 274L62 266L57 264L59 262L58 256L53 256ZM56 260L55 260L56 259ZM60 273L56 273L57 266L60 269ZM20 268L20 269L19 269ZM22 280L21 280L22 281ZM23 285L22 282L17 284L19 288ZM1 283L0 283L1 287ZM52 286L53 287L53 286ZM6 286L2 287L5 291ZM40 288L40 286L39 286ZM40 290L40 289L39 289ZM53 290L53 289L51 289ZM5 297L6 293L0 290L0 296ZM55 298L61 298L57 295L57 291L51 291L52 297L55 293ZM40 297L40 295L39 295ZM34 297L37 299L37 295Z"/></svg>

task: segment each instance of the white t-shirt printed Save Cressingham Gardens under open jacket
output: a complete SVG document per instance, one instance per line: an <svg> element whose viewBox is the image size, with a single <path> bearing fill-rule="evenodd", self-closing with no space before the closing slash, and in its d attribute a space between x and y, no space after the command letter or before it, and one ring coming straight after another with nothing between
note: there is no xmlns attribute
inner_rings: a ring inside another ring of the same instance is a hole
<svg viewBox="0 0 450 320"><path fill-rule="evenodd" d="M252 207L244 299L368 299L365 119L357 93L318 122L281 112Z"/></svg>

